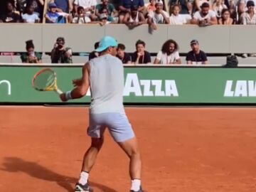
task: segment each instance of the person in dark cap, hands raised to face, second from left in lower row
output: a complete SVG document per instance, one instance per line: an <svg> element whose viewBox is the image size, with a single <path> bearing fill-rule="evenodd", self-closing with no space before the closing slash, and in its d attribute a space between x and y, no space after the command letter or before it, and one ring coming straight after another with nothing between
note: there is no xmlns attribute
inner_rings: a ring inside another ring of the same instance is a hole
<svg viewBox="0 0 256 192"><path fill-rule="evenodd" d="M65 48L65 39L59 37L51 51L51 63L73 63L71 48Z"/></svg>

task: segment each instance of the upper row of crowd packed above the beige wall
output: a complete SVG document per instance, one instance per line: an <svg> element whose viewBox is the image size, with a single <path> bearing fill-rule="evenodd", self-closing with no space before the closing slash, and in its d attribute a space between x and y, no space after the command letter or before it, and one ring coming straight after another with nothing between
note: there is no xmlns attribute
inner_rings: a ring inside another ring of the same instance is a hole
<svg viewBox="0 0 256 192"><path fill-rule="evenodd" d="M254 0L1 0L0 22L4 23L125 23L132 29L148 23L196 24L198 26L256 24ZM47 10L44 11L44 4Z"/></svg>

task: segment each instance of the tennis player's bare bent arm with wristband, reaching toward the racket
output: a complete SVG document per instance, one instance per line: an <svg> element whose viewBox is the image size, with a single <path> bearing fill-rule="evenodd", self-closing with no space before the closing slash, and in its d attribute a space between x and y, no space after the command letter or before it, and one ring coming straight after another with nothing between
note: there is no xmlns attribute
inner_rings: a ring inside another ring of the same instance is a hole
<svg viewBox="0 0 256 192"><path fill-rule="evenodd" d="M89 63L85 63L85 65L82 67L82 78L79 80L79 83L76 84L77 86L73 90L64 92L63 94L61 94L60 100L65 102L68 100L79 99L85 96L90 86L89 71L90 71L90 65Z"/></svg>

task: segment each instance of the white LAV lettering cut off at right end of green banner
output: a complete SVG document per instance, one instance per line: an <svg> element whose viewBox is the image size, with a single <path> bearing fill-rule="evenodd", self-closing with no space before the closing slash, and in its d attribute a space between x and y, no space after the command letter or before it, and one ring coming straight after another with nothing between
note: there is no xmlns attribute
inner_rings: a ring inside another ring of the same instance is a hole
<svg viewBox="0 0 256 192"><path fill-rule="evenodd" d="M227 80L224 97L256 97L255 80Z"/></svg>

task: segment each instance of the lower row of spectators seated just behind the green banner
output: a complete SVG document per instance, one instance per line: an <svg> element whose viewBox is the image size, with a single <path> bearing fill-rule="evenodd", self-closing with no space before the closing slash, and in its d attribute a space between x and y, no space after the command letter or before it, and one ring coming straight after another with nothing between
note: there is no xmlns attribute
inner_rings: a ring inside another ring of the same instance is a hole
<svg viewBox="0 0 256 192"><path fill-rule="evenodd" d="M203 50L200 50L197 40L192 40L190 43L191 51L186 55L187 64L207 64L207 56ZM95 43L95 50L99 47L99 42ZM151 60L151 54L146 51L146 43L138 40L135 44L136 50L134 53L126 53L125 46L119 43L117 46L117 58L122 60L124 64L181 64L181 58L178 53L178 43L169 39L166 41L156 58ZM21 54L22 63L42 63L41 53L34 51L35 46L33 41L26 41L26 53ZM89 60L97 58L99 53L93 50L89 54ZM65 46L65 38L59 37L54 43L53 50L50 53L51 63L73 63L72 49Z"/></svg>

